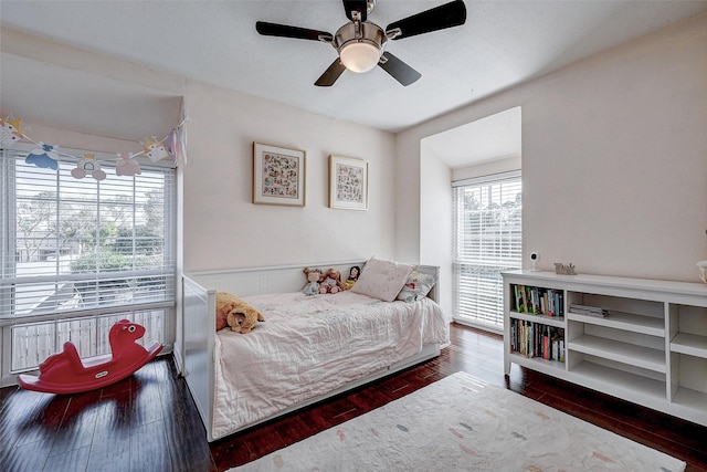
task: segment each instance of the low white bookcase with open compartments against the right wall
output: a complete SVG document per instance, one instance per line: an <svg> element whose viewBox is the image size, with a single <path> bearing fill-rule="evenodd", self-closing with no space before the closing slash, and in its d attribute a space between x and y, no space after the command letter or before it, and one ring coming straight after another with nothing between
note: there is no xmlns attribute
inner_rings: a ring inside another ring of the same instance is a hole
<svg viewBox="0 0 707 472"><path fill-rule="evenodd" d="M535 271L503 276L506 374L514 363L707 426L707 284ZM561 316L524 311L516 296L534 289L560 294ZM573 313L572 305L605 316ZM511 321L540 325L540 333L550 326L563 358L514 350Z"/></svg>

